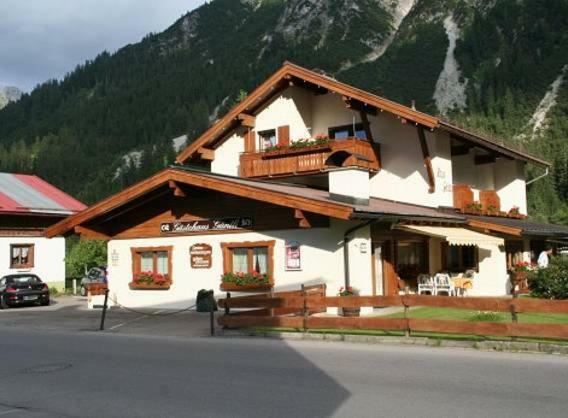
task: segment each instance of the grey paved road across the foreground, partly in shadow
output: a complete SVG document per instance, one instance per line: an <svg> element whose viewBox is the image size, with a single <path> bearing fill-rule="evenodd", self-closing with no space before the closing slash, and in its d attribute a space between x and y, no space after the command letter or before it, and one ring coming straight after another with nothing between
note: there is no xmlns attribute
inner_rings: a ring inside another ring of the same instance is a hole
<svg viewBox="0 0 568 418"><path fill-rule="evenodd" d="M565 417L568 358L0 324L0 417Z"/></svg>

